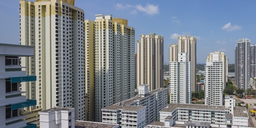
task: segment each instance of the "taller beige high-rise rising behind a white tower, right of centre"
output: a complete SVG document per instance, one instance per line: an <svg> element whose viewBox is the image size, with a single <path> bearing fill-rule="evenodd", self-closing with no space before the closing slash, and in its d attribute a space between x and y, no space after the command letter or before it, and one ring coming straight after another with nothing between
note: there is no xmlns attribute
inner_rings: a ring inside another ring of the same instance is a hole
<svg viewBox="0 0 256 128"><path fill-rule="evenodd" d="M196 89L196 37L178 37L178 52L188 53L188 61L191 62L192 70L192 91Z"/></svg>

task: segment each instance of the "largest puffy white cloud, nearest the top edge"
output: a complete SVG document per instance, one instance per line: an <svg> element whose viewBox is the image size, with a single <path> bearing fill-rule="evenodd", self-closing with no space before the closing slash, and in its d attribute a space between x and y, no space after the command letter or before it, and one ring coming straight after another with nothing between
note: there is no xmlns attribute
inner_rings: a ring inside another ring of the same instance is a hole
<svg viewBox="0 0 256 128"><path fill-rule="evenodd" d="M136 5L135 7L137 8L138 11L146 12L149 15L159 14L158 5L147 3L145 7L141 6L140 4Z"/></svg>

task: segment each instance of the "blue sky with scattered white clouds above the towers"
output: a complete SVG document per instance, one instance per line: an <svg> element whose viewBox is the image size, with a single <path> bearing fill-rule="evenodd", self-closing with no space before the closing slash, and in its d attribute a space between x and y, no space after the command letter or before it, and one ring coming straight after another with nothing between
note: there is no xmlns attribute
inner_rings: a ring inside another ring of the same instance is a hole
<svg viewBox="0 0 256 128"><path fill-rule="evenodd" d="M186 34L197 37L197 63L205 63L214 51L225 52L229 63L234 63L238 39L248 38L256 44L254 0L76 0L75 6L85 11L85 19L95 20L96 14L128 19L128 26L135 28L135 39L151 32L163 35L166 62L169 44ZM1 1L0 17L0 43L19 44L19 1Z"/></svg>

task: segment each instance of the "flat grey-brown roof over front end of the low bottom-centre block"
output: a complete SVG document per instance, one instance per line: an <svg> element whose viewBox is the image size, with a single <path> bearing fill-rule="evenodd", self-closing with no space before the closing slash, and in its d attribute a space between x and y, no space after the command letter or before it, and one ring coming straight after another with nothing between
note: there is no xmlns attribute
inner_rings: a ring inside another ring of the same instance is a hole
<svg viewBox="0 0 256 128"><path fill-rule="evenodd" d="M112 105L112 106L108 106L106 108L102 108L104 110L117 110L117 109L121 109L124 111L139 111L140 109L144 108L146 106L131 106L131 105Z"/></svg>

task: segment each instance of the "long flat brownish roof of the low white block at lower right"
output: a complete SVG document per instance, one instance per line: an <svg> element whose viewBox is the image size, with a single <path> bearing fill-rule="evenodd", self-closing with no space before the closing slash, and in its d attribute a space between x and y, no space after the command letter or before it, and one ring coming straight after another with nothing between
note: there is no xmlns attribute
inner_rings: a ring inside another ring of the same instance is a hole
<svg viewBox="0 0 256 128"><path fill-rule="evenodd" d="M176 108L205 109L205 110L215 110L215 111L229 110L228 108L225 108L225 106L171 103L168 106L166 106L164 109L162 109L161 111L172 112Z"/></svg>

